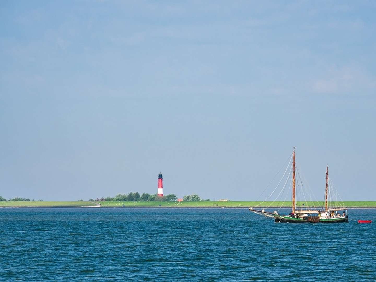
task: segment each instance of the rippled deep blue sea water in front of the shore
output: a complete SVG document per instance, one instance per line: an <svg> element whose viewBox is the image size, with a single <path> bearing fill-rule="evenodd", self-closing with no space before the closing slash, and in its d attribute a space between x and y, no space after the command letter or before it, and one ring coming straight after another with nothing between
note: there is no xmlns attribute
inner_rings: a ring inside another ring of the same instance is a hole
<svg viewBox="0 0 376 282"><path fill-rule="evenodd" d="M274 223L247 209L0 208L0 280L374 281L375 209Z"/></svg>

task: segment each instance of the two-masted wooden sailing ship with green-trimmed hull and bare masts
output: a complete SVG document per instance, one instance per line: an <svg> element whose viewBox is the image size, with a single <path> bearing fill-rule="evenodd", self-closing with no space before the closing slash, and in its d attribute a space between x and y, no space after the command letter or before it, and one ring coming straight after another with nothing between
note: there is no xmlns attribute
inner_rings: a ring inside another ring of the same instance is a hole
<svg viewBox="0 0 376 282"><path fill-rule="evenodd" d="M292 160L292 164L291 164ZM291 166L290 166L291 164ZM279 207L278 211L268 212L265 211L265 208L262 210L255 209L255 208L249 208L250 211L255 212L256 214L265 215L265 217L274 218L276 223L331 223L331 222L349 222L348 216L347 216L347 208L344 206L344 203L342 200L334 199L336 196L339 197L338 193L332 193L331 187L333 185L329 185L331 183L329 179L329 169L326 167L326 185L325 185L325 194L324 194L324 201L323 206L320 206L317 208L315 205L312 205L312 203L316 203L315 201L301 201L300 206L297 206L296 201L296 194L297 194L297 177L296 177L296 162L295 162L295 150L290 158L290 162L288 164L288 167L290 167L290 173L288 174L288 177L290 177L290 174L292 172L292 200L291 200L291 212L286 215L279 214L279 209L282 208L283 204ZM288 168L285 170L284 176L287 173ZM284 177L282 176L282 178ZM301 178L299 177L299 180ZM282 180L282 179L281 179ZM285 189L286 183L288 181L285 181L285 185L282 188L282 190ZM279 181L277 187L281 181ZM300 181L299 183L301 188L303 188L303 183ZM277 188L276 187L276 188ZM272 192L272 194L276 191ZM272 195L270 194L270 196ZM278 194L280 196L281 192ZM302 194L302 193L300 193ZM269 197L270 197L269 196ZM269 198L268 197L268 198ZM304 198L306 198L303 195ZM267 198L267 199L268 199ZM329 199L330 198L330 199ZM266 201L266 200L265 200ZM264 201L264 202L265 202ZM262 202L262 203L264 203ZM269 208L275 200L266 208ZM284 201L285 202L285 201ZM262 203L259 204L260 208Z"/></svg>

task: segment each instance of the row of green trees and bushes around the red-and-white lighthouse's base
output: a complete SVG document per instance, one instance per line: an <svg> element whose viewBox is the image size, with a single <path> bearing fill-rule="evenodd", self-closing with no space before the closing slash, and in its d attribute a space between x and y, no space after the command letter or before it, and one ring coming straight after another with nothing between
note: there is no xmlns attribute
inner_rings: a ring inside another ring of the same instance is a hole
<svg viewBox="0 0 376 282"><path fill-rule="evenodd" d="M115 202L174 202L177 200L177 197L175 194L168 194L166 196L158 196L158 194L148 194L148 193L138 193L138 192L129 192L128 194L117 194L115 197L106 197L106 198L97 198L96 201L115 201ZM89 201L94 201L93 199L90 199ZM186 195L183 197L184 202L198 202L203 201L199 195L193 194L193 195ZM207 199L205 201L210 201L210 199Z"/></svg>

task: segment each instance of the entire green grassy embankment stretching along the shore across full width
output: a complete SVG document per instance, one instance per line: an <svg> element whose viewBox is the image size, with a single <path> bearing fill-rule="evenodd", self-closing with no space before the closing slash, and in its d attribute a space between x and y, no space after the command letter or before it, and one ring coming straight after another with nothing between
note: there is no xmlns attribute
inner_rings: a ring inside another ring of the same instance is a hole
<svg viewBox="0 0 376 282"><path fill-rule="evenodd" d="M202 202L98 202L102 207L171 207L171 208L183 208L183 207L228 207L228 208L247 208L252 206L258 208L260 202L252 201L202 201ZM262 203L262 207L269 206L272 202ZM297 202L297 206L301 207L303 202ZM304 202L306 205L306 203ZM376 207L376 201L346 201L344 204L348 207ZM282 202L274 202L272 206L281 206ZM290 202L285 202L283 206L290 206ZM313 202L308 202L308 205L314 206ZM315 206L319 207L322 202L316 202ZM0 202L0 207L81 207L81 206L95 206L92 202L82 201L55 201L55 202Z"/></svg>

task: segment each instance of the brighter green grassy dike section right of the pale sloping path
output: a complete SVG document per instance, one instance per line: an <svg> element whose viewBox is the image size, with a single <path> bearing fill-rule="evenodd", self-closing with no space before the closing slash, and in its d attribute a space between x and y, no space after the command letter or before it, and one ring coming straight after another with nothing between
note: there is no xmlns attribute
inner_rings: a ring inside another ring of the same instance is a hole
<svg viewBox="0 0 376 282"><path fill-rule="evenodd" d="M257 208L260 202L252 202L252 201L229 201L229 202L219 202L219 201L200 201L200 202L98 202L101 204L102 207L229 207L229 208L242 208L242 207L250 207ZM262 207L269 206L272 202L264 202L262 203ZM297 202L297 206L302 206L302 204L306 205L305 202ZM274 202L272 206L283 206L288 207L291 205L290 202ZM344 204L347 207L376 207L376 201L346 201ZM308 202L308 205L314 206L313 202ZM322 202L315 202L315 206L319 207L322 205Z"/></svg>

